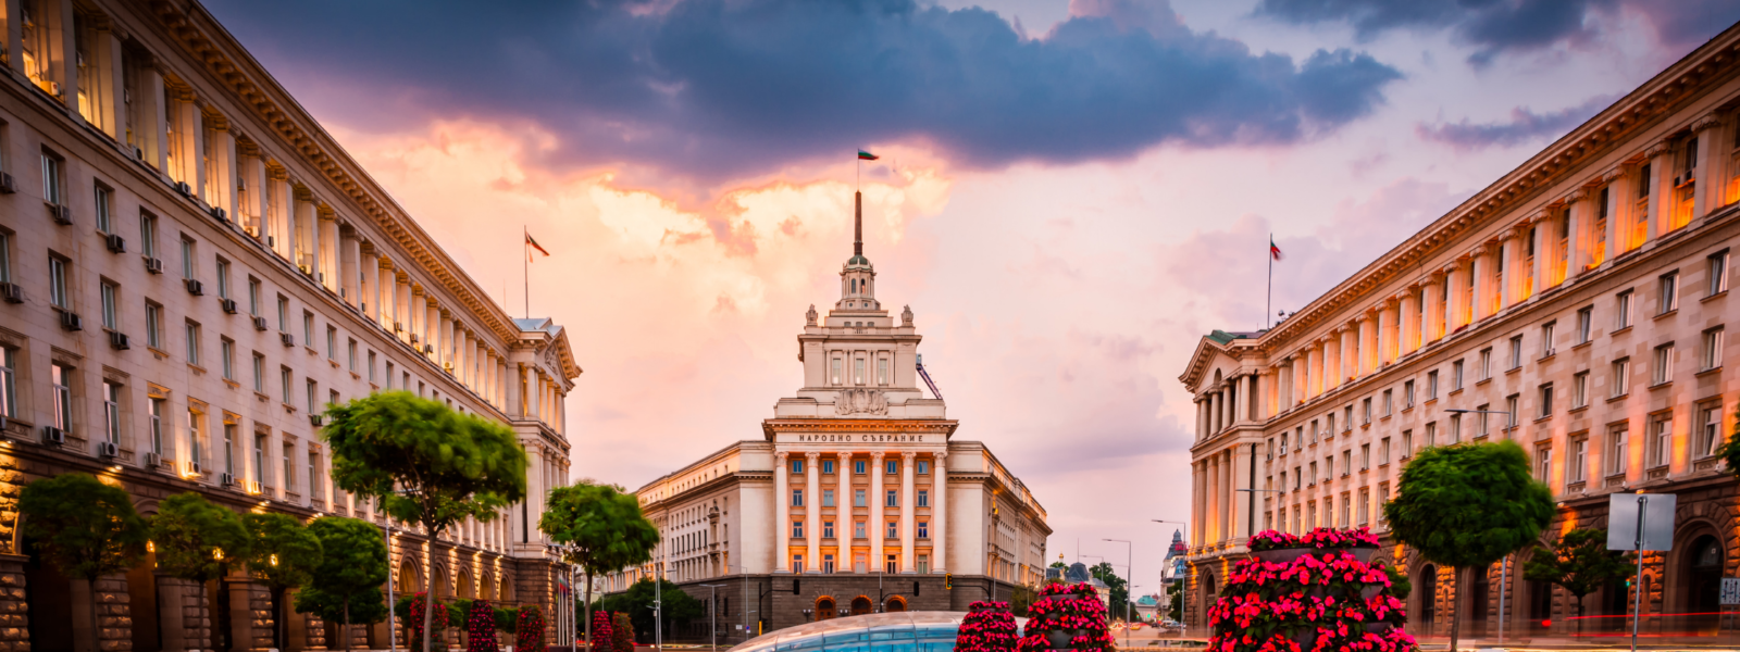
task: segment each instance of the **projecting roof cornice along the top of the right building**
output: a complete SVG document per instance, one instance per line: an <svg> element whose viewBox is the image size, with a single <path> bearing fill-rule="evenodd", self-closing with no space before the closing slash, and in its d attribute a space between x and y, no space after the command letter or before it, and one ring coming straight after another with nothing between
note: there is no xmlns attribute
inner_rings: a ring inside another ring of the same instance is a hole
<svg viewBox="0 0 1740 652"><path fill-rule="evenodd" d="M1378 287L1418 273L1429 257L1453 245L1465 245L1460 238L1467 233L1510 217L1510 210L1535 200L1569 172L1585 169L1625 144L1625 139L1658 125L1670 111L1696 99L1698 90L1733 78L1740 70L1737 63L1740 26L1731 26L1265 332L1260 346L1270 355L1277 348L1293 346L1300 334L1366 301Z"/></svg>

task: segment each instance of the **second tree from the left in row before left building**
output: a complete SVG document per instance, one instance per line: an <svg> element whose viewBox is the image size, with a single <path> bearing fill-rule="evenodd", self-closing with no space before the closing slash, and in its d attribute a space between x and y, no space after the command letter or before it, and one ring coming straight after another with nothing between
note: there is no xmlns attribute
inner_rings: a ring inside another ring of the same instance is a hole
<svg viewBox="0 0 1740 652"><path fill-rule="evenodd" d="M240 515L190 492L171 496L157 506L151 541L157 542L158 570L204 584L223 577L231 560L247 560L252 537ZM211 614L211 596L205 591L200 596ZM211 647L221 645L212 640Z"/></svg>

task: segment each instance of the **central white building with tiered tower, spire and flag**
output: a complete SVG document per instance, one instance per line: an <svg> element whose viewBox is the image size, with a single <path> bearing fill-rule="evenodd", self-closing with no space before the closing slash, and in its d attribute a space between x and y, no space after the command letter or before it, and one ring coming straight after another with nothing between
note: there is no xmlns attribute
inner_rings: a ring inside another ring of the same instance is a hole
<svg viewBox="0 0 1740 652"><path fill-rule="evenodd" d="M877 301L860 238L840 301L811 308L797 336L797 396L780 398L762 438L635 492L661 544L606 589L663 574L717 596L722 640L741 642L809 619L966 610L1041 582L1046 509L990 449L954 438L941 396L919 388L920 339L910 308Z"/></svg>

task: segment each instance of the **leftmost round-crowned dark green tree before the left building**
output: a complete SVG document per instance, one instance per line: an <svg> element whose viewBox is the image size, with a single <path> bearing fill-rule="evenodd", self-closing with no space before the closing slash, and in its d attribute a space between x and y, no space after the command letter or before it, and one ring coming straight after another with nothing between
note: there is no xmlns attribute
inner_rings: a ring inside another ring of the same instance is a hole
<svg viewBox="0 0 1740 652"><path fill-rule="evenodd" d="M63 575L82 579L90 600L90 626L78 638L80 650L94 650L90 633L97 622L96 581L132 569L144 556L146 525L132 509L132 499L120 487L110 487L85 473L66 473L24 485L17 502L24 516L24 537L37 553Z"/></svg>

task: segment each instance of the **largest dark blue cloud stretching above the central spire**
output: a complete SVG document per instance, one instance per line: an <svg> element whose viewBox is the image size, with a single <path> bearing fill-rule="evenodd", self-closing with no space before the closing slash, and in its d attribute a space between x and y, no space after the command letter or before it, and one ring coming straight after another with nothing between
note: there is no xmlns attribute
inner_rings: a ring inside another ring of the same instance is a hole
<svg viewBox="0 0 1740 652"><path fill-rule="evenodd" d="M1164 0L1081 2L1042 38L917 0L211 7L292 92L351 123L529 122L557 137L552 163L712 181L893 141L981 169L1296 143L1371 113L1401 77L1350 50L1255 54Z"/></svg>

